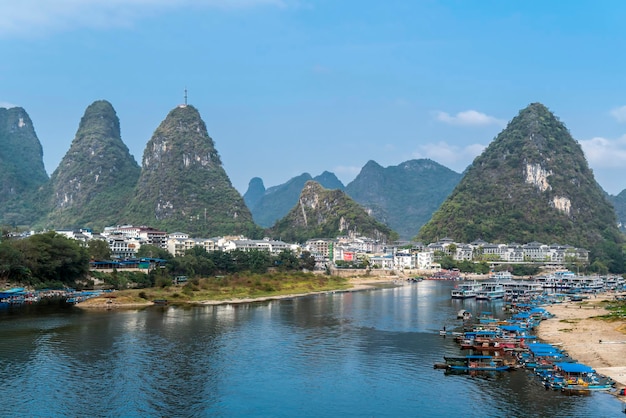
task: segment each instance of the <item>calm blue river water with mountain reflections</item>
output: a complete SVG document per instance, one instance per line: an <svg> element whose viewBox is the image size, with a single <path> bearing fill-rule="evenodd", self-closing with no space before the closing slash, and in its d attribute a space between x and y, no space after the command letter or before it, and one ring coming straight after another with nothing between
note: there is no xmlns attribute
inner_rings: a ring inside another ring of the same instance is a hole
<svg viewBox="0 0 626 418"><path fill-rule="evenodd" d="M447 375L453 283L272 302L0 312L3 416L614 417L605 393L545 390L524 370Z"/></svg>

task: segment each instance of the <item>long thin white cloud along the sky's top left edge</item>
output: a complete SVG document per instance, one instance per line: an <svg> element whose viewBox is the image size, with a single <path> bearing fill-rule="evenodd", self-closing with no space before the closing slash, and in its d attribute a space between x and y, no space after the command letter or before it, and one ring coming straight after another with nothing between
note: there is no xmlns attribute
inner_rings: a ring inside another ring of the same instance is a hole
<svg viewBox="0 0 626 418"><path fill-rule="evenodd" d="M75 28L130 26L183 8L241 9L286 5L288 0L20 0L0 1L0 37L37 36Z"/></svg>

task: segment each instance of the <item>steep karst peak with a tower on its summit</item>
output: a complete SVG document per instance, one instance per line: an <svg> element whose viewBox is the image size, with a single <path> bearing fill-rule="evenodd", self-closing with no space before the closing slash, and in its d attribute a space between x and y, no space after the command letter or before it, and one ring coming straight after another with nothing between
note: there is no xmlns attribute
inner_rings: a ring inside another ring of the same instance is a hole
<svg viewBox="0 0 626 418"><path fill-rule="evenodd" d="M202 236L259 231L193 106L170 111L148 141L125 219Z"/></svg>

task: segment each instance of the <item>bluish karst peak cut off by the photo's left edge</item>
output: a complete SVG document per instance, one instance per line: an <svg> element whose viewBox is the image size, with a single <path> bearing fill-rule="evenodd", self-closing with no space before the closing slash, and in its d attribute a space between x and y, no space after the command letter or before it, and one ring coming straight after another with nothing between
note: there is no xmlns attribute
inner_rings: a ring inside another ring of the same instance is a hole
<svg viewBox="0 0 626 418"><path fill-rule="evenodd" d="M0 224L30 225L43 212L35 201L48 181L43 150L28 113L0 108Z"/></svg>

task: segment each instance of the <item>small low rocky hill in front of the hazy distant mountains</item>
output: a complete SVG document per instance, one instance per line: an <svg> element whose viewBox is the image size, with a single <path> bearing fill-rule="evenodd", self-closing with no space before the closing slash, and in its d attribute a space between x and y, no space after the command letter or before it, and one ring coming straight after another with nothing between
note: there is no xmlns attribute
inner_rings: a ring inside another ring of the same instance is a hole
<svg viewBox="0 0 626 418"><path fill-rule="evenodd" d="M308 181L297 204L269 230L271 236L287 242L310 238L334 238L354 233L390 242L397 233L376 221L343 191L324 189Z"/></svg>

